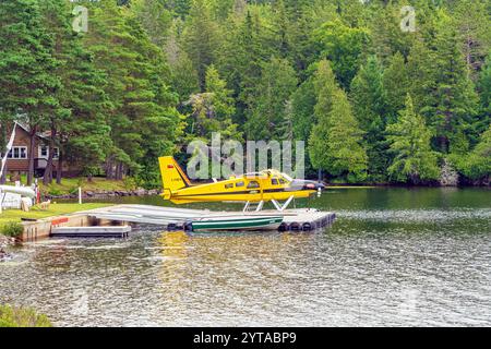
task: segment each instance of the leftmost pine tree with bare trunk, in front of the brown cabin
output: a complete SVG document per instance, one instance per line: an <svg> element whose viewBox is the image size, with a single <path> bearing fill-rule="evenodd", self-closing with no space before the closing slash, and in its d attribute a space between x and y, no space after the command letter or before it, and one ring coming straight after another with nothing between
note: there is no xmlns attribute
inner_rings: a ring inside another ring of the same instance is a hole
<svg viewBox="0 0 491 349"><path fill-rule="evenodd" d="M0 110L10 118L22 115L29 128L27 183L34 178L34 140L47 116L61 113L55 74L60 62L51 56L55 43L37 0L0 2Z"/></svg>

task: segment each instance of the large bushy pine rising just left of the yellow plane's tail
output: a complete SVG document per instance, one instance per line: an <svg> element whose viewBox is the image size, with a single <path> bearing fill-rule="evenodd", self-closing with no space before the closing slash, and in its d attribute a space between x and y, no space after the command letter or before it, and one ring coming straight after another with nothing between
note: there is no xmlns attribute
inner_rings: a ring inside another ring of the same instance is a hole
<svg viewBox="0 0 491 349"><path fill-rule="evenodd" d="M106 73L105 93L112 103L107 177L139 173L156 183L156 158L173 151L181 130L177 95L167 85L168 67L134 13L112 2L94 4L86 46Z"/></svg>

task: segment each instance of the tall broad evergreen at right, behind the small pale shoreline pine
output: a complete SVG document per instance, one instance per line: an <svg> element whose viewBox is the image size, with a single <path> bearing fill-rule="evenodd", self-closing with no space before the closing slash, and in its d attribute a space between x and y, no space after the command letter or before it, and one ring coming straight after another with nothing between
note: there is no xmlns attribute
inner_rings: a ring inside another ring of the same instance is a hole
<svg viewBox="0 0 491 349"><path fill-rule="evenodd" d="M477 136L478 96L470 80L459 45L455 20L439 10L434 20L434 37L430 43L417 40L409 57L411 95L417 110L434 130L434 146L447 153L455 132L464 132L469 141Z"/></svg>

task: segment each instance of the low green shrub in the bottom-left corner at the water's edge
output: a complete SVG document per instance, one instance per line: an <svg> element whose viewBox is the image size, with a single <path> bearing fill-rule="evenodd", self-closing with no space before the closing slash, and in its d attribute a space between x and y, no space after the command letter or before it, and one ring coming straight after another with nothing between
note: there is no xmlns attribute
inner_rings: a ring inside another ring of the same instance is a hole
<svg viewBox="0 0 491 349"><path fill-rule="evenodd" d="M0 305L0 327L52 327L44 314L31 308Z"/></svg>

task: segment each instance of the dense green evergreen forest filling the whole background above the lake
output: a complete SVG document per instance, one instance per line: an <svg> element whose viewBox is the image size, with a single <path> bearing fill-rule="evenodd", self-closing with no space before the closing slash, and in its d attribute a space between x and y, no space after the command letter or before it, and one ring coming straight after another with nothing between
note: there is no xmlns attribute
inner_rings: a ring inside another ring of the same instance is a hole
<svg viewBox="0 0 491 349"><path fill-rule="evenodd" d="M2 140L22 119L145 186L217 131L304 140L331 182L489 185L490 19L490 0L2 0Z"/></svg>

